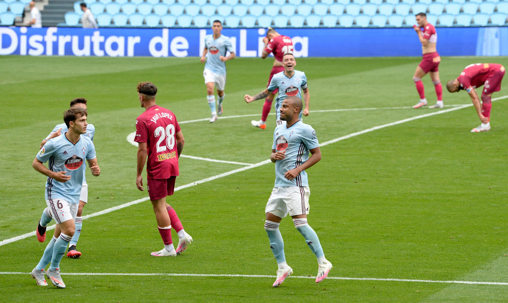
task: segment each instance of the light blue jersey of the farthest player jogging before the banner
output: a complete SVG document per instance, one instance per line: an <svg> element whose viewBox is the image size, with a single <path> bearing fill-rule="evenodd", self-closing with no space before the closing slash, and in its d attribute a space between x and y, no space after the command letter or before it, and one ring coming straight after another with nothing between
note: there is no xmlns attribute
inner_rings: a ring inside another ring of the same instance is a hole
<svg viewBox="0 0 508 303"><path fill-rule="evenodd" d="M220 56L226 56L226 52L233 52L233 45L229 37L220 35L219 38L213 39L213 35L205 36L205 48L208 50L206 55L205 70L210 70L217 75L226 75L226 63L220 61Z"/></svg>

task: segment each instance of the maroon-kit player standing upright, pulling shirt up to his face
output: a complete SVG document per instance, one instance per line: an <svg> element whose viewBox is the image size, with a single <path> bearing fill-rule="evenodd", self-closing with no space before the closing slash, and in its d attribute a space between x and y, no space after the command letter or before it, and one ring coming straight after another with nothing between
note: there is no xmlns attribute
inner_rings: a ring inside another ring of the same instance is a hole
<svg viewBox="0 0 508 303"><path fill-rule="evenodd" d="M420 43L422 43L422 54L423 58L420 64L418 64L415 75L413 76L413 81L416 84L416 90L420 95L420 102L418 102L414 109L421 108L427 106L427 99L425 98L425 91L422 83L422 77L430 74L430 79L432 79L432 83L434 84L434 88L436 90L437 95L437 103L430 108L442 108L443 107L443 89L441 86L441 81L439 81L439 71L438 66L441 58L436 50L437 43L437 33L434 25L427 22L427 15L425 13L419 13L416 15L416 22L418 26L415 25L416 33L418 34L418 39L420 39ZM423 27L423 31L420 27Z"/></svg>

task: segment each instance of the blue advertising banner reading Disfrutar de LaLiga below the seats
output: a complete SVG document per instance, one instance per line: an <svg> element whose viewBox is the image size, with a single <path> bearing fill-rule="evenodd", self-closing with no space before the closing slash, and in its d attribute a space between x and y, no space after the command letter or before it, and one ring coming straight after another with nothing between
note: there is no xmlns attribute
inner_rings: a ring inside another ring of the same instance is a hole
<svg viewBox="0 0 508 303"><path fill-rule="evenodd" d="M507 27L436 28L441 56L508 55ZM297 57L421 56L412 28L284 28ZM211 29L0 27L0 55L200 56ZM264 28L223 29L239 57L261 56Z"/></svg>

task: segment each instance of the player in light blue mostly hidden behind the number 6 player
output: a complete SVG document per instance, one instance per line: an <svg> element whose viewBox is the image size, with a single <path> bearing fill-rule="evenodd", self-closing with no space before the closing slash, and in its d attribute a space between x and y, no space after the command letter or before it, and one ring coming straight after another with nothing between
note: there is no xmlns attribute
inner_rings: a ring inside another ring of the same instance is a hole
<svg viewBox="0 0 508 303"><path fill-rule="evenodd" d="M71 107L80 107L86 108L86 99L85 98L75 98L71 101ZM42 146L52 138L56 138L60 136L62 133L65 133L68 131L67 125L65 123L56 125L53 130L48 134L46 139L44 139L41 142L41 146L39 148L42 148ZM93 142L93 136L95 134L95 126L92 124L88 124L86 127L86 133L83 133L82 136L88 137ZM69 251L67 253L67 257L71 258L79 258L81 256L81 252L76 250L76 245L78 244L79 236L81 235L81 228L83 226L83 207L88 203L88 184L86 183L85 179L85 170L83 170L83 185L81 187L81 195L79 197L79 207L78 207L78 213L76 214L76 218L74 219L74 224L76 226L76 230L74 231L74 236L72 237L72 241L69 244ZM39 221L39 224L36 229L36 235L37 240L39 242L44 242L46 240L46 226L51 221L51 212L49 211L49 208L46 208L41 216L41 220Z"/></svg>

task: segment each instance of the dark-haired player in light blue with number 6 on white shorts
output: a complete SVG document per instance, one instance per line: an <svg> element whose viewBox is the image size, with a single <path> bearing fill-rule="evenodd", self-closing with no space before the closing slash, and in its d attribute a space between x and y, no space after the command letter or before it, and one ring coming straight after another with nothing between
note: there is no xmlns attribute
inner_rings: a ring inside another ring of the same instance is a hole
<svg viewBox="0 0 508 303"><path fill-rule="evenodd" d="M88 161L93 176L99 176L96 151L86 132L87 112L83 108L71 108L63 113L68 131L63 136L48 140L37 154L32 166L48 176L46 182L46 205L55 219L53 239L44 250L39 264L31 271L37 285L46 286L44 268L50 263L47 278L58 288L65 288L60 277L60 260L74 235L74 218L83 183L84 160ZM44 162L48 161L48 168Z"/></svg>

